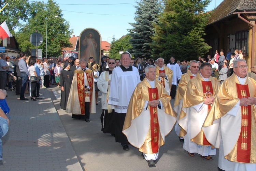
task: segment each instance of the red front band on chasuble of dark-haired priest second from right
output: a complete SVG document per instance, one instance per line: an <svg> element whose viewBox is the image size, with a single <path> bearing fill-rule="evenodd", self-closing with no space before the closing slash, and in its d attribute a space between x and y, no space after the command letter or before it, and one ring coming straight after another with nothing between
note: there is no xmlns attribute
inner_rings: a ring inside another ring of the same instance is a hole
<svg viewBox="0 0 256 171"><path fill-rule="evenodd" d="M212 81L202 81L202 86L203 86L203 96L206 98L212 97L213 96L213 89L212 89ZM208 111L211 109L211 105L208 105ZM206 138L205 135L203 134L203 145L212 145Z"/></svg>

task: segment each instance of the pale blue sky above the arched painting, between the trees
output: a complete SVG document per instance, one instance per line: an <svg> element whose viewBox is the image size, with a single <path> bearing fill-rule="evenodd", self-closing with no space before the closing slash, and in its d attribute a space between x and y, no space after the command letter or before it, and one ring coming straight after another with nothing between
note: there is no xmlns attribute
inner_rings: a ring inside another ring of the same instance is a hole
<svg viewBox="0 0 256 171"><path fill-rule="evenodd" d="M47 3L47 0L38 1ZM212 0L207 11L213 10L215 3L218 6L222 1ZM79 36L86 28L94 28L100 32L102 41L110 43L113 37L118 40L126 35L127 29L132 28L129 23L135 22L133 19L136 11L134 5L137 5L135 0L55 0L55 2L59 4L63 18L69 22L75 36Z"/></svg>

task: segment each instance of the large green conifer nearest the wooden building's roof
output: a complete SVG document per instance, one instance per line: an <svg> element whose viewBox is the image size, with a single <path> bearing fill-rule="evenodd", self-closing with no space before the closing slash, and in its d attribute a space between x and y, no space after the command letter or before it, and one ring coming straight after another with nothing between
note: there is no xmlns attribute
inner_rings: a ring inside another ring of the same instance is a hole
<svg viewBox="0 0 256 171"><path fill-rule="evenodd" d="M198 59L211 48L204 42L204 29L208 22L205 8L211 0L165 0L165 9L155 25L153 55L167 61Z"/></svg>

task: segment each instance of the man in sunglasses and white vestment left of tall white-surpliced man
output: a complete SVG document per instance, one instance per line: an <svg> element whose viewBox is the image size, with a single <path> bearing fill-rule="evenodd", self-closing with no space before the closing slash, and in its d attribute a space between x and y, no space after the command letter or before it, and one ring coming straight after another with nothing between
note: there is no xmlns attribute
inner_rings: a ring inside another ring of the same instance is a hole
<svg viewBox="0 0 256 171"><path fill-rule="evenodd" d="M111 75L114 68L115 68L115 60L111 58L109 59L109 68L107 68L106 71L101 73L97 81L98 89L102 92L102 97L101 97L102 113L100 116L101 125L102 125L101 131L103 131L103 133L110 133L112 135L115 134L114 115L113 115L114 106L108 104L108 101L109 101L109 93L110 93L110 80L111 80Z"/></svg>

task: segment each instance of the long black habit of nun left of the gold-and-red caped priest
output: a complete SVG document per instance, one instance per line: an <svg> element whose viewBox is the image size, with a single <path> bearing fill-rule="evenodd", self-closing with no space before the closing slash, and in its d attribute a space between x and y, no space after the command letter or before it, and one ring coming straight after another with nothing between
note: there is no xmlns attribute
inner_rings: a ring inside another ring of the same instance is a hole
<svg viewBox="0 0 256 171"><path fill-rule="evenodd" d="M66 109L69 92L73 80L73 72L71 70L62 70L60 73L59 85L64 87L64 91L61 91L60 108Z"/></svg>

